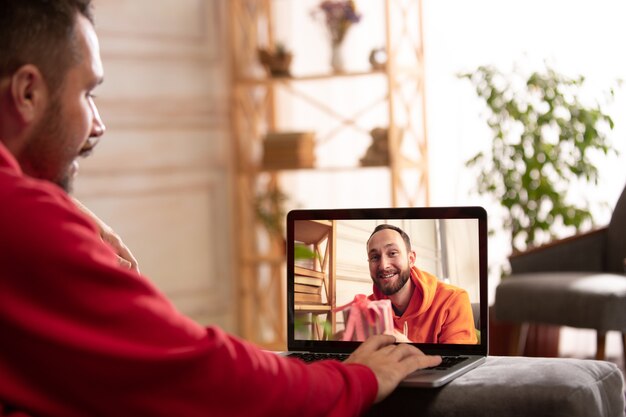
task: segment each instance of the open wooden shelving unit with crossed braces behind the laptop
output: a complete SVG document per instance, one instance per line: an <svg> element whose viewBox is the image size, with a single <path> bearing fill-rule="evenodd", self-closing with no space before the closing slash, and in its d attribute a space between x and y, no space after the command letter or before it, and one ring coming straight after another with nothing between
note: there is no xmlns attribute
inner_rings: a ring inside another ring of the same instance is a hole
<svg viewBox="0 0 626 417"><path fill-rule="evenodd" d="M259 195L278 195L280 178L294 170L264 169L261 164L264 135L269 131L290 128L284 120L278 96L289 95L315 111L336 121L336 128L319 141L338 140L338 132L350 128L367 136L372 126L363 123L363 115L377 105L385 106L389 155L383 169L388 173L389 201L393 206L428 205L428 157L424 97L424 60L421 35L421 0L381 1L379 17L385 21L387 64L383 70L347 71L338 74L306 74L293 77L269 77L257 58L259 47L273 47L276 1L230 0L230 39L232 53L232 133L235 167L233 225L236 241L236 271L239 303L239 332L242 337L269 349L285 347L285 243L280 227L268 227L258 211ZM358 7L358 2L357 2ZM304 91L307 83L331 83L340 80L382 79L386 92L372 97L350 115L333 108L327 97ZM325 166L301 170L307 175L319 172L358 172L369 168ZM377 169L380 169L378 167ZM385 187L386 188L386 187ZM280 201L264 202L264 210L284 223Z"/></svg>

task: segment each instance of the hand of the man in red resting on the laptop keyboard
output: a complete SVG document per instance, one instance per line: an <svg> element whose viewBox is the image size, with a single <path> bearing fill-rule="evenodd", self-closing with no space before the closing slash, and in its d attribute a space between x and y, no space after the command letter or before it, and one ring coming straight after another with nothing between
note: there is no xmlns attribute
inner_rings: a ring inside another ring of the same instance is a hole
<svg viewBox="0 0 626 417"><path fill-rule="evenodd" d="M411 372L436 366L440 356L425 355L413 345L395 345L390 335L372 336L361 344L345 363L360 363L369 367L378 380L376 402L385 399Z"/></svg>

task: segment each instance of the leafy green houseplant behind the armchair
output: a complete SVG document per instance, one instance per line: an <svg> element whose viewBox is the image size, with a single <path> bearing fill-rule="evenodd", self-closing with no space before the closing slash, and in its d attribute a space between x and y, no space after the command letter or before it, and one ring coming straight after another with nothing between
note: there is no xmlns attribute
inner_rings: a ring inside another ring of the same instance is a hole
<svg viewBox="0 0 626 417"><path fill-rule="evenodd" d="M589 203L568 201L572 184L594 184L593 157L616 151L613 120L596 102L582 100L585 79L551 68L524 76L491 66L459 75L469 80L487 109L493 133L488 152L467 162L479 170L477 190L499 201L513 252L556 237L559 226L580 231L593 224ZM604 97L613 98L613 88Z"/></svg>

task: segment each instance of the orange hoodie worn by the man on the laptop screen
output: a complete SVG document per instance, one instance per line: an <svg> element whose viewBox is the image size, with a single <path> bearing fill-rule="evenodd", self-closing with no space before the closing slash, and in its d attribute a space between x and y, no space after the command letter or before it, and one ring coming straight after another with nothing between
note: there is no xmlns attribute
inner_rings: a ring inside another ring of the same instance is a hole
<svg viewBox="0 0 626 417"><path fill-rule="evenodd" d="M434 275L411 268L413 294L394 327L415 343L478 343L467 291L441 282ZM371 300L389 298L376 285Z"/></svg>

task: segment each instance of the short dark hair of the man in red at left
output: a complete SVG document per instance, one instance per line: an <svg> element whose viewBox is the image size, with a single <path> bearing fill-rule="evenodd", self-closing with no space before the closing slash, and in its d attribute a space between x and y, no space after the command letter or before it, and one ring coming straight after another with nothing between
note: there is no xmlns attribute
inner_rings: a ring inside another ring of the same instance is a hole
<svg viewBox="0 0 626 417"><path fill-rule="evenodd" d="M32 64L52 92L82 57L76 18L93 23L91 0L0 0L0 79Z"/></svg>

